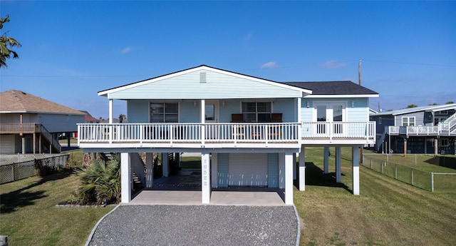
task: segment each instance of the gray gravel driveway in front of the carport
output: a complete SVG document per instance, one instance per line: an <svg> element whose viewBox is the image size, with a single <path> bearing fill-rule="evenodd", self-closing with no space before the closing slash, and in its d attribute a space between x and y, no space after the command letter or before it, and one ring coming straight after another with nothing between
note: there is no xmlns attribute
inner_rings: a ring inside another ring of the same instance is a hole
<svg viewBox="0 0 456 246"><path fill-rule="evenodd" d="M292 206L124 205L89 245L296 245Z"/></svg>

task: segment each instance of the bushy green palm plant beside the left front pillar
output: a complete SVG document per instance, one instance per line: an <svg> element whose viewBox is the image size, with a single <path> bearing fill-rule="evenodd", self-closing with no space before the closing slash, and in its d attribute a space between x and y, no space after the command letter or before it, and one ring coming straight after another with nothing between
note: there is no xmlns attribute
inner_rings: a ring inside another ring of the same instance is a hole
<svg viewBox="0 0 456 246"><path fill-rule="evenodd" d="M83 203L120 201L120 160L117 156L107 162L95 160L89 168L78 170L77 175L81 182L78 193Z"/></svg>

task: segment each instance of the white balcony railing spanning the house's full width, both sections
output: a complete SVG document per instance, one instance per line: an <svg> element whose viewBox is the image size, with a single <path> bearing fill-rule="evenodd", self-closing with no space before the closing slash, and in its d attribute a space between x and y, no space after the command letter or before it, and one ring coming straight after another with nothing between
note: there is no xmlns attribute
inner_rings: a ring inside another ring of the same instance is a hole
<svg viewBox="0 0 456 246"><path fill-rule="evenodd" d="M375 139L375 122L78 124L80 143L299 143Z"/></svg>

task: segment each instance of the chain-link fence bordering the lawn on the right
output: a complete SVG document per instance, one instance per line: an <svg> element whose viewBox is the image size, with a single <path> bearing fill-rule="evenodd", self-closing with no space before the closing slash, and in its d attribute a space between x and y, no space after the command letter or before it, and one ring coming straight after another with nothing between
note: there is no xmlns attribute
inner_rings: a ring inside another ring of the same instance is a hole
<svg viewBox="0 0 456 246"><path fill-rule="evenodd" d="M408 165L394 163L388 158L384 160L383 157L376 155L363 155L363 163L361 165L424 190L432 192L435 190L442 192L456 191L456 173L435 173L421 170Z"/></svg>

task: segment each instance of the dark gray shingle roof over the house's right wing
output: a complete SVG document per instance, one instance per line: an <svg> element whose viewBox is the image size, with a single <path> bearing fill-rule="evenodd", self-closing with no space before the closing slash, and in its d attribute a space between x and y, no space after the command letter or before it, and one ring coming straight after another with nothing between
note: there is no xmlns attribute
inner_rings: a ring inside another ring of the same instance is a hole
<svg viewBox="0 0 456 246"><path fill-rule="evenodd" d="M359 86L352 81L320 81L320 82L284 82L312 91L312 95L378 95L375 91Z"/></svg>

